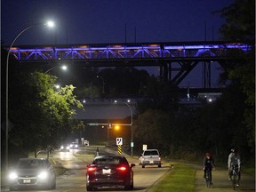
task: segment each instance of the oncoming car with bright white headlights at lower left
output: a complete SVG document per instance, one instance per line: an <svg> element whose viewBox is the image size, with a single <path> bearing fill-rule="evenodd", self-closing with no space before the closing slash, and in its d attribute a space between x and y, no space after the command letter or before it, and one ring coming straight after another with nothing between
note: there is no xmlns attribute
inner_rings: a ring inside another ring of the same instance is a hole
<svg viewBox="0 0 256 192"><path fill-rule="evenodd" d="M9 172L10 191L25 188L56 188L56 173L46 158L20 158Z"/></svg>

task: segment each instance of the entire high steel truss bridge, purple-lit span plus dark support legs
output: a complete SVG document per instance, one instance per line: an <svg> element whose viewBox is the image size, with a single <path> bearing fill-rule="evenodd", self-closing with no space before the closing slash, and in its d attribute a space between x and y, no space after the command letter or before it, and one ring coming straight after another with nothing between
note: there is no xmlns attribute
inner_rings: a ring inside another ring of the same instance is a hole
<svg viewBox="0 0 256 192"><path fill-rule="evenodd" d="M211 88L211 66L225 65L228 51L247 52L247 44L228 42L62 44L12 46L12 55L21 63L61 62L85 67L159 67L159 76L172 84L180 82L203 63L204 88Z"/></svg>

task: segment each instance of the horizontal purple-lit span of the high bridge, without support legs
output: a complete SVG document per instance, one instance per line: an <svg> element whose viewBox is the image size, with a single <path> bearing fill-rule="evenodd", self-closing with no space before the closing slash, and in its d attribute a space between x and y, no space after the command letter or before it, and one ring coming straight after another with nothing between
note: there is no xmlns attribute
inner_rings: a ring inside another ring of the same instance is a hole
<svg viewBox="0 0 256 192"><path fill-rule="evenodd" d="M247 51L250 46L225 42L145 44L68 44L12 46L17 60L124 60L220 58L228 50Z"/></svg>

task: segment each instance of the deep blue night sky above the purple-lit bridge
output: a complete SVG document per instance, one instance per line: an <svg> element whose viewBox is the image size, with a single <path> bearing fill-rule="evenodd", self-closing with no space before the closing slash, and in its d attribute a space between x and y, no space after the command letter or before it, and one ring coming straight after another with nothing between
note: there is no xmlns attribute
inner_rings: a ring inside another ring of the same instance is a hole
<svg viewBox="0 0 256 192"><path fill-rule="evenodd" d="M29 28L15 44L219 40L224 20L212 12L231 3L233 0L2 0L1 41L9 45L22 29L46 20L54 20L55 28Z"/></svg>

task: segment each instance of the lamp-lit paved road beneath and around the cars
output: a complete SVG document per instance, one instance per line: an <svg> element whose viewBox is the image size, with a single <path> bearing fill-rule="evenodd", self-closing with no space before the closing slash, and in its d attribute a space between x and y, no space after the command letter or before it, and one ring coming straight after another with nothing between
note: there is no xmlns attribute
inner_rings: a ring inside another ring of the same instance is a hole
<svg viewBox="0 0 256 192"><path fill-rule="evenodd" d="M51 156L53 164L55 166L64 166L68 169L65 174L58 177L57 188L54 190L33 190L36 192L84 192L86 191L86 165L92 162L92 158L95 156L95 147L85 148L85 150L72 149L69 152L54 152ZM100 155L111 153L100 149ZM41 155L44 156L44 155ZM39 157L41 157L39 156ZM45 156L44 156L45 157ZM134 188L131 191L144 192L147 191L150 186L154 185L165 172L170 170L170 166L164 165L162 168L157 166L147 167L142 169L138 164L137 158L127 157L130 164L135 163L133 167L134 172ZM3 189L2 191L9 191ZM98 191L124 191L124 188L100 188ZM21 192L21 190L20 190ZM24 190L22 191L24 192Z"/></svg>

